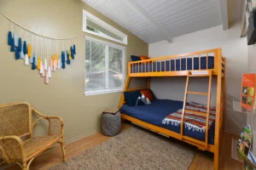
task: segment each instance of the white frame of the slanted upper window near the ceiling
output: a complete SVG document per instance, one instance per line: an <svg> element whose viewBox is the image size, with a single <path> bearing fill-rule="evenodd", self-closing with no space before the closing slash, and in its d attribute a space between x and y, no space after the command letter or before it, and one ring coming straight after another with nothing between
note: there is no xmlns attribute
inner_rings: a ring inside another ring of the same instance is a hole
<svg viewBox="0 0 256 170"><path fill-rule="evenodd" d="M120 41L118 39L115 39L113 37L108 37L108 36L104 36L102 34L96 33L94 31L90 31L87 29L87 24L86 24L86 19L90 19L91 21L95 22L97 25L102 26L103 28L105 28L108 31L111 31L113 34L122 37L123 41ZM127 35L119 30L117 30L116 28L114 28L113 26L108 25L106 22L104 22L103 20L98 19L96 16L94 16L93 14L88 13L87 11L85 11L83 9L83 31L98 37L103 37L106 38L108 40L111 40L113 42L119 42L119 43L123 43L125 45L128 44L128 40L127 40Z"/></svg>

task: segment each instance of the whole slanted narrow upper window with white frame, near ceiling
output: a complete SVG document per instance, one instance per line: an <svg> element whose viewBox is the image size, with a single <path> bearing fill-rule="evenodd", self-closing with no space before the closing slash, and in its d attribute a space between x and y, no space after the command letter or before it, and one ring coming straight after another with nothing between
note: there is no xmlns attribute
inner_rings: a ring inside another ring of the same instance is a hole
<svg viewBox="0 0 256 170"><path fill-rule="evenodd" d="M127 35L85 10L83 11L83 31L127 45Z"/></svg>

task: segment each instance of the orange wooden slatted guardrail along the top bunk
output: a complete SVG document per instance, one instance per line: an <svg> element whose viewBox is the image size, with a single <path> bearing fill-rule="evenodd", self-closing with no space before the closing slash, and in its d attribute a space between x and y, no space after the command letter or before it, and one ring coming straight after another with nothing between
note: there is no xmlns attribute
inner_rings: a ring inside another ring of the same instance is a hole
<svg viewBox="0 0 256 170"><path fill-rule="evenodd" d="M222 49L216 48L129 62L128 74L130 77L177 77L187 76L189 71L211 70L212 75L224 77L224 65Z"/></svg>

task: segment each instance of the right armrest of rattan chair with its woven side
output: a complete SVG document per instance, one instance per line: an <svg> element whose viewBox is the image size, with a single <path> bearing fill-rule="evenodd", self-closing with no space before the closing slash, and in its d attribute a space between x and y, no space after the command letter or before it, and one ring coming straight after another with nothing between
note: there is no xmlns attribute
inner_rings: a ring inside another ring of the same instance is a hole
<svg viewBox="0 0 256 170"><path fill-rule="evenodd" d="M61 118L61 116L44 116L43 114L39 113L36 110L32 110L33 113L37 114L38 116L41 116L41 118L38 118L35 122L33 122L32 127L34 127L35 123L45 119L49 122L49 135L63 135L63 126L64 122Z"/></svg>

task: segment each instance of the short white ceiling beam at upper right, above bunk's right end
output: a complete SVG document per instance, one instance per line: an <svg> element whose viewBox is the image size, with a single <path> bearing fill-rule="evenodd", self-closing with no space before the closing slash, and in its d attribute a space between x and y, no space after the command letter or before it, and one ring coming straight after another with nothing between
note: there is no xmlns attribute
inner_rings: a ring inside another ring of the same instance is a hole
<svg viewBox="0 0 256 170"><path fill-rule="evenodd" d="M218 0L219 10L222 19L223 30L229 29L228 2L227 0Z"/></svg>

